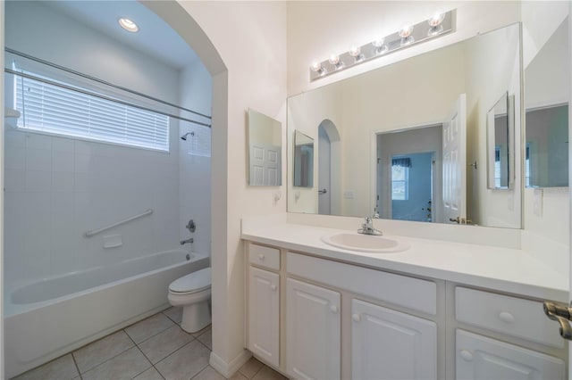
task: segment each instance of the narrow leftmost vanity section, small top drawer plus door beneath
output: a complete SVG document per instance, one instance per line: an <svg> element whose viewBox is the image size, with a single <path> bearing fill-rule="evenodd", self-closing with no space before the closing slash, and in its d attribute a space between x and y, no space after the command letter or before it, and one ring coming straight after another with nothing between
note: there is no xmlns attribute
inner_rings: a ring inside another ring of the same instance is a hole
<svg viewBox="0 0 572 380"><path fill-rule="evenodd" d="M280 364L280 251L250 244L248 268L248 350L278 367Z"/></svg>

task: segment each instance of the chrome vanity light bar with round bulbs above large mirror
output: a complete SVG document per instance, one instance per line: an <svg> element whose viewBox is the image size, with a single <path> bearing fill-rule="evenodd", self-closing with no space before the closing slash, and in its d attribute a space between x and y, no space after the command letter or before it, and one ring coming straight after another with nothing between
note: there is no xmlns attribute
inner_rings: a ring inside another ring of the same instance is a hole
<svg viewBox="0 0 572 380"><path fill-rule="evenodd" d="M453 32L455 17L455 10L435 12L425 21L404 25L395 33L377 37L366 45L352 45L346 53L332 54L325 61L312 63L310 81L324 78L336 71L346 70L359 63Z"/></svg>

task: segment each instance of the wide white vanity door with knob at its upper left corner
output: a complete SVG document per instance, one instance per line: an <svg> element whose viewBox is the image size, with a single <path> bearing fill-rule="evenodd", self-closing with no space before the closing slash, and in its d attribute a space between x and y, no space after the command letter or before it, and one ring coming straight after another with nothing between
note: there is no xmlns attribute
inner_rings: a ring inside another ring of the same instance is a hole
<svg viewBox="0 0 572 380"><path fill-rule="evenodd" d="M353 379L436 379L437 325L369 302L351 302Z"/></svg>

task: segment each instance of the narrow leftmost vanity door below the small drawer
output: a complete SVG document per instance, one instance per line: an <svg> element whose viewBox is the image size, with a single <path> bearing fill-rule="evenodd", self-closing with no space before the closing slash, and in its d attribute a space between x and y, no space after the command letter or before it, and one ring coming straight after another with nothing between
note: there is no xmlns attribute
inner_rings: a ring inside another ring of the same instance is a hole
<svg viewBox="0 0 572 380"><path fill-rule="evenodd" d="M279 366L280 277L267 270L249 268L248 349L273 366Z"/></svg>

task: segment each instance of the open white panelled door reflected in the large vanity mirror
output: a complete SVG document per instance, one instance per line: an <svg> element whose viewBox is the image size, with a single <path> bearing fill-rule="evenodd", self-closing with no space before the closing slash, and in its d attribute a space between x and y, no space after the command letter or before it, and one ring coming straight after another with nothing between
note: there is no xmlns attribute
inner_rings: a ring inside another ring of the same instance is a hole
<svg viewBox="0 0 572 380"><path fill-rule="evenodd" d="M467 219L467 95L443 123L442 204L445 223ZM456 220L456 221L455 221Z"/></svg>

